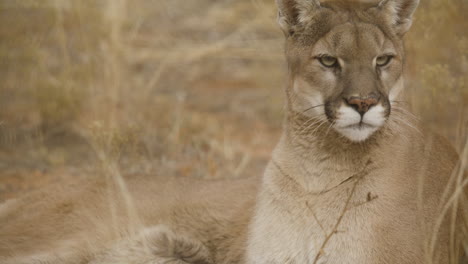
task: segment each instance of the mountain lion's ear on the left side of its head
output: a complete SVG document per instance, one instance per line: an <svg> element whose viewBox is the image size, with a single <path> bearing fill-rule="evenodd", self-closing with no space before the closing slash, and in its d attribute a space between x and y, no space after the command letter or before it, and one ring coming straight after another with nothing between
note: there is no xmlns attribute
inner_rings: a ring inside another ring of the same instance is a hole
<svg viewBox="0 0 468 264"><path fill-rule="evenodd" d="M296 26L307 21L321 8L319 0L276 0L278 24L286 36L294 34Z"/></svg>

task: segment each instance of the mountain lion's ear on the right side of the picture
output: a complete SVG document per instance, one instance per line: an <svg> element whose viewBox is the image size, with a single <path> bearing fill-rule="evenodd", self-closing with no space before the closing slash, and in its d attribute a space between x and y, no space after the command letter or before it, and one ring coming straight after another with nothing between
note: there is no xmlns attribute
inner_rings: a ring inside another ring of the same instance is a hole
<svg viewBox="0 0 468 264"><path fill-rule="evenodd" d="M414 11L419 0L383 0L377 6L394 26L396 33L403 36L411 27Z"/></svg>

